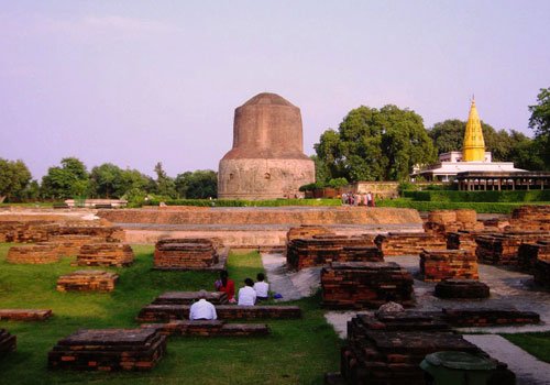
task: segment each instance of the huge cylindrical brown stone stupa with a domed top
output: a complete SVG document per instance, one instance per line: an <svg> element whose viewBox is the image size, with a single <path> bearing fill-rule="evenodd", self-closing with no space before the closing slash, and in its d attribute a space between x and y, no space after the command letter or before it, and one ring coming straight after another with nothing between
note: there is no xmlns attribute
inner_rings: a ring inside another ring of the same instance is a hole
<svg viewBox="0 0 550 385"><path fill-rule="evenodd" d="M315 182L304 154L300 109L276 94L258 94L235 109L233 148L220 161L222 199L295 198Z"/></svg>

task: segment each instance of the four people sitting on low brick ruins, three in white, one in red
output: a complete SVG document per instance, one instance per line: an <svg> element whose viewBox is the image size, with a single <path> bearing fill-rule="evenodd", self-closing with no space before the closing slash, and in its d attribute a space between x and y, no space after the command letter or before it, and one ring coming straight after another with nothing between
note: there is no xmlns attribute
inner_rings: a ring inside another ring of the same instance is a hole
<svg viewBox="0 0 550 385"><path fill-rule="evenodd" d="M244 279L244 286L239 289L239 295L235 299L235 283L229 278L227 271L220 272L220 279L215 282L217 292L222 292L228 295L230 304L240 306L254 306L258 300L265 300L270 297L270 284L265 282L265 275L258 273L256 282L252 278ZM215 320L218 318L216 307L207 300L208 293L199 292L199 300L191 305L189 309L189 319L193 320Z"/></svg>

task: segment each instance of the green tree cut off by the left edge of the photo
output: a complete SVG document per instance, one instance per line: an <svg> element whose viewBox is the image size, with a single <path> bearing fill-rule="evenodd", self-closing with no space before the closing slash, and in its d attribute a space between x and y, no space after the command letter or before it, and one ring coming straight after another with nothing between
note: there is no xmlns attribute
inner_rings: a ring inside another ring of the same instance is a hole
<svg viewBox="0 0 550 385"><path fill-rule="evenodd" d="M7 161L0 158L0 204L21 200L23 191L31 182L31 172L23 161Z"/></svg>

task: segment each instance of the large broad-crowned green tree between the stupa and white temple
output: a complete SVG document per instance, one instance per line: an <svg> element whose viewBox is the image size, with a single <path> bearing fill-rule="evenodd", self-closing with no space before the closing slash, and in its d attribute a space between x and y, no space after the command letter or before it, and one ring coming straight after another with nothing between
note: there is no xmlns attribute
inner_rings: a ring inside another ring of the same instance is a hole
<svg viewBox="0 0 550 385"><path fill-rule="evenodd" d="M404 180L415 165L435 160L422 118L392 105L351 110L338 131L322 133L315 148L331 178L351 182Z"/></svg>

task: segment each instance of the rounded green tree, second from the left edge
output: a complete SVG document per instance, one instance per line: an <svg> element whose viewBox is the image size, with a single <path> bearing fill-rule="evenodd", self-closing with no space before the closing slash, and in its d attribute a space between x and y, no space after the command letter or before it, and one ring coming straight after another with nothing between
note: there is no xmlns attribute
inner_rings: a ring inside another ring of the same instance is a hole
<svg viewBox="0 0 550 385"><path fill-rule="evenodd" d="M48 168L42 178L41 189L45 198L65 199L85 196L88 191L86 166L76 157L63 158L61 166Z"/></svg>

